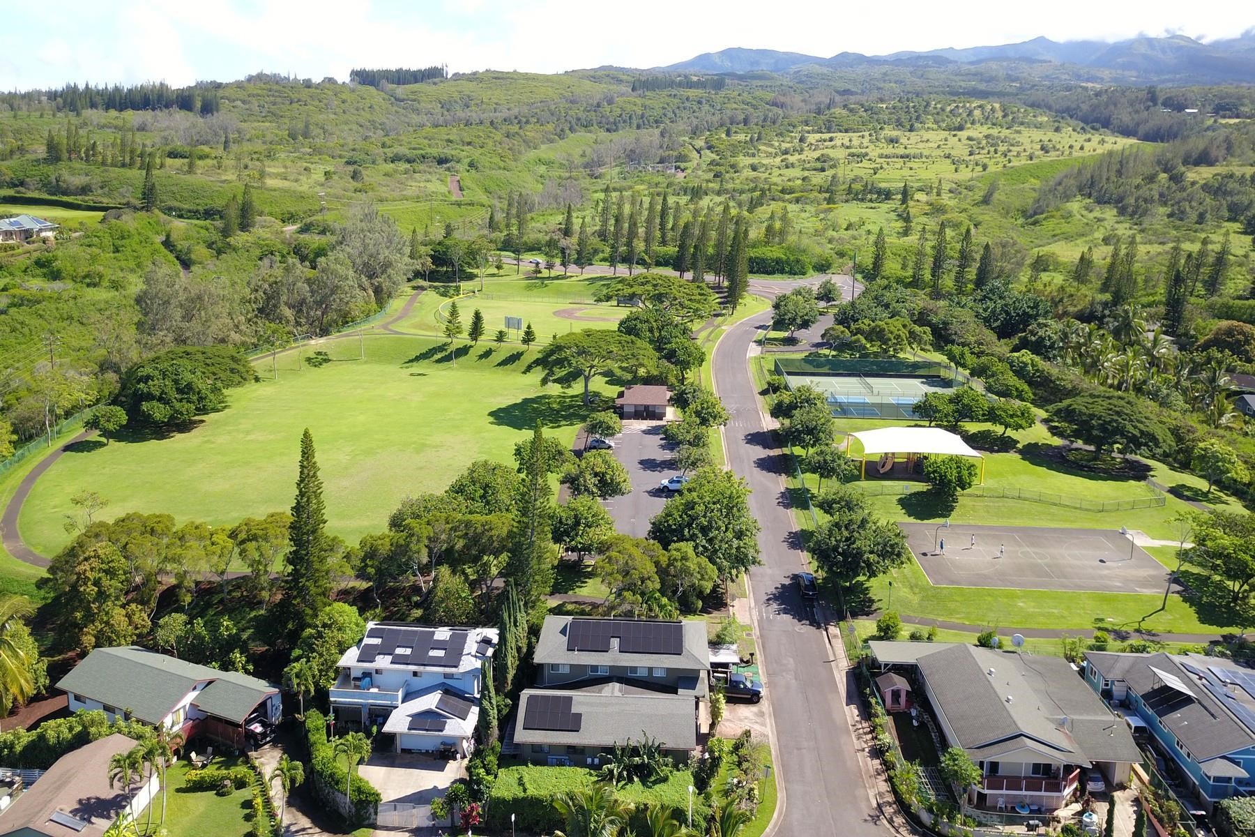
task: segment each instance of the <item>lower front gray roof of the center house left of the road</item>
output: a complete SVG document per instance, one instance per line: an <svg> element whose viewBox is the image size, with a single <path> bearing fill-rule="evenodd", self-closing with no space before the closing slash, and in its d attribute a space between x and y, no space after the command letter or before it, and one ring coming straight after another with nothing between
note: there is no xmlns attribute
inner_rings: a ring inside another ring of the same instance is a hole
<svg viewBox="0 0 1255 837"><path fill-rule="evenodd" d="M571 712L581 715L580 729L526 729L527 703L536 695L571 695ZM527 689L518 696L515 742L518 744L574 744L602 747L625 744L641 735L658 739L666 749L690 750L698 745L697 704L692 696L614 694L602 689Z"/></svg>

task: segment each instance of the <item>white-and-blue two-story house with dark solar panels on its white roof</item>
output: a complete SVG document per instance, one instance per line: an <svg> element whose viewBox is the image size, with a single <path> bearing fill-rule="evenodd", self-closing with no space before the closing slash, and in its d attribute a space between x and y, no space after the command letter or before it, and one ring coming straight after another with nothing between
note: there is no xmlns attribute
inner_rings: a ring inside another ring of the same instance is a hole
<svg viewBox="0 0 1255 837"><path fill-rule="evenodd" d="M336 723L378 727L398 753L468 757L482 668L497 637L494 627L369 622L361 641L340 658L330 693Z"/></svg>

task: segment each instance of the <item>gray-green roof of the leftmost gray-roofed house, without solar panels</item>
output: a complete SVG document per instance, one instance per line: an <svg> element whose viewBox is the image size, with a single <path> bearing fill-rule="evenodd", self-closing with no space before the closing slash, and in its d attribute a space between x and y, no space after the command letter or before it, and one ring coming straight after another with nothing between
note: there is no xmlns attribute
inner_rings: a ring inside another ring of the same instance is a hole
<svg viewBox="0 0 1255 837"><path fill-rule="evenodd" d="M61 691L98 700L159 724L196 684L208 681L192 703L202 712L240 723L267 695L265 680L218 671L136 646L98 648L56 684Z"/></svg>

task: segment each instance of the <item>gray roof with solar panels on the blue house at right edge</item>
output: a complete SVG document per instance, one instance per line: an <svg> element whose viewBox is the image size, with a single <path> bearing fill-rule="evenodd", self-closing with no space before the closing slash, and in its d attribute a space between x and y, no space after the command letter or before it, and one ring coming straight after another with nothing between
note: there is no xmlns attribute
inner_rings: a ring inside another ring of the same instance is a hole
<svg viewBox="0 0 1255 837"><path fill-rule="evenodd" d="M1242 669L1219 658L1163 653L1087 651L1086 660L1102 676L1127 683L1147 708L1155 712L1165 729L1181 739L1191 755L1200 762L1255 745L1255 730L1234 718L1232 713L1202 686L1197 675L1191 674L1182 664L1196 669L1232 668L1246 674L1251 674L1250 669ZM1151 670L1152 666L1175 674L1190 689L1192 696L1162 685L1158 675Z"/></svg>

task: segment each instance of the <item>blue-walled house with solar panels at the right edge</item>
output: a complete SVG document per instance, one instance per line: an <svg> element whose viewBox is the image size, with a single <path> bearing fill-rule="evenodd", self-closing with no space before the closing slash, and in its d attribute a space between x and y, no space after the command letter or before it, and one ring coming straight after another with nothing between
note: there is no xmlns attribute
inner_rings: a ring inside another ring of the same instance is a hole
<svg viewBox="0 0 1255 837"><path fill-rule="evenodd" d="M1209 813L1255 793L1255 671L1197 654L1087 651L1084 674L1091 689L1137 714Z"/></svg>

